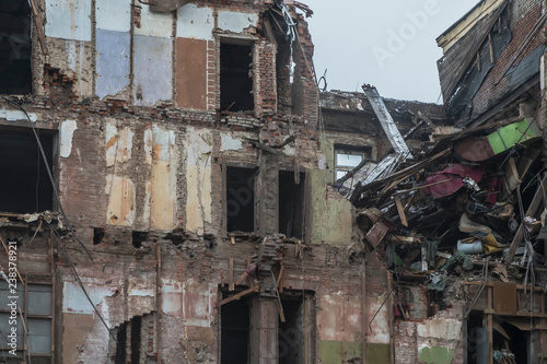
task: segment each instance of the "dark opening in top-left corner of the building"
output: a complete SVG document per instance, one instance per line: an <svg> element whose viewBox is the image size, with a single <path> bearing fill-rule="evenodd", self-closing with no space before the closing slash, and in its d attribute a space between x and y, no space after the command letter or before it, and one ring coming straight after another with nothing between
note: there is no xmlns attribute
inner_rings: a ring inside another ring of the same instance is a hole
<svg viewBox="0 0 547 364"><path fill-rule="evenodd" d="M27 0L0 1L0 94L28 94L31 71L31 7Z"/></svg>

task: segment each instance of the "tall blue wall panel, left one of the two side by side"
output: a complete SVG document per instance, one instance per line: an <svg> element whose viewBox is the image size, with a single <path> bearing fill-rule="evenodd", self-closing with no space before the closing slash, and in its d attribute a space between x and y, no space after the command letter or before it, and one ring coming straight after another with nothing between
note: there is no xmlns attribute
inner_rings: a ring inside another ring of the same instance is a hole
<svg viewBox="0 0 547 364"><path fill-rule="evenodd" d="M96 94L104 98L115 95L129 84L130 35L97 30Z"/></svg>

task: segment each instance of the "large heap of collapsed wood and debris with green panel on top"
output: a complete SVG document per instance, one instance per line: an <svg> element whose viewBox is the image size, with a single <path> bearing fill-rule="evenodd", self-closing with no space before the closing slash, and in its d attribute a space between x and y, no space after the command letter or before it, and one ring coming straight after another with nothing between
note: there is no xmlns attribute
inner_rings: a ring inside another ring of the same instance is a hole
<svg viewBox="0 0 547 364"><path fill-rule="evenodd" d="M431 272L452 267L453 257L459 268L467 259L462 257L544 265L547 180L542 146L532 118L463 131L437 128L422 150L408 153L414 158L394 157L401 155L394 148L383 161L359 166L335 187L358 208L363 242L391 267Z"/></svg>

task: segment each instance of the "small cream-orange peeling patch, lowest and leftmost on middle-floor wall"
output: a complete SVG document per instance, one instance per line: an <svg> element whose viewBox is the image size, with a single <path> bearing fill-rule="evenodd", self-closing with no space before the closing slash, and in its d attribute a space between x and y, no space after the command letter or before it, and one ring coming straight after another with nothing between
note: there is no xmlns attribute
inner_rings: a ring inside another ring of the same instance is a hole
<svg viewBox="0 0 547 364"><path fill-rule="evenodd" d="M116 226L131 226L136 214L135 185L128 177L107 176L108 209L107 223Z"/></svg>

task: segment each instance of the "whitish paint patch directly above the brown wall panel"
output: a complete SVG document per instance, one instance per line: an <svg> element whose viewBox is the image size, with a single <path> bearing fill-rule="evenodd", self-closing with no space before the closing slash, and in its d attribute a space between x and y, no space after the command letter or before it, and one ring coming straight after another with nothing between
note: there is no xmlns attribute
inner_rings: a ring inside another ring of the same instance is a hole
<svg viewBox="0 0 547 364"><path fill-rule="evenodd" d="M214 20L211 8L187 3L177 11L176 35L183 38L212 40Z"/></svg>

